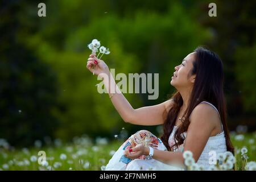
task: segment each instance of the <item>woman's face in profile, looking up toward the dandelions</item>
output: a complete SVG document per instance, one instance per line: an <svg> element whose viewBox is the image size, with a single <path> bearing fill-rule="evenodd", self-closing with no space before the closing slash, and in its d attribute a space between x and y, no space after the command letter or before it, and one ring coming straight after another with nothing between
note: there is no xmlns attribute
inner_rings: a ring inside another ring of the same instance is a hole
<svg viewBox="0 0 256 182"><path fill-rule="evenodd" d="M196 52L189 53L180 65L175 67L174 75L172 76L171 85L176 89L189 88L193 86L196 75L190 76L193 69L193 61L195 60Z"/></svg>

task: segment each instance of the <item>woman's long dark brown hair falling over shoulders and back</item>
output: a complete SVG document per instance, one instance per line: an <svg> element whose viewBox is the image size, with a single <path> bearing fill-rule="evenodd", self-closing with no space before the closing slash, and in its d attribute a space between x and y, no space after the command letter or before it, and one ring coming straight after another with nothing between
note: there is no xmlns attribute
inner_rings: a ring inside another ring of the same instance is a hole
<svg viewBox="0 0 256 182"><path fill-rule="evenodd" d="M170 98L174 101L174 104L168 111L166 121L164 121L163 135L161 139L168 151L172 151L180 144L183 144L184 137L182 133L188 130L190 123L189 115L200 102L208 101L213 104L220 113L226 138L226 148L228 151L233 153L234 148L230 141L228 126L226 123L226 101L223 91L224 73L222 61L216 53L203 47L197 47L195 52L196 59L193 61L193 68L190 75L196 74L196 79L189 98L188 107L185 110L183 117L181 117L184 118L184 120L174 134L174 139L177 142L173 146L169 146L168 144L168 139L175 126L177 114L179 113L180 107L183 105L183 99L177 90Z"/></svg>

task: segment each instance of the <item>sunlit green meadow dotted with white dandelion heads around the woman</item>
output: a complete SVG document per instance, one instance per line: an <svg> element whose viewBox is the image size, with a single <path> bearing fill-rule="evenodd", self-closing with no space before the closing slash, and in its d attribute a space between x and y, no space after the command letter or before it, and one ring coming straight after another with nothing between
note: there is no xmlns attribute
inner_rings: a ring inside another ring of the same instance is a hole
<svg viewBox="0 0 256 182"><path fill-rule="evenodd" d="M104 170L109 159L124 142L124 139L114 137L112 141L97 137L73 138L72 142L63 143L60 139L53 141L45 139L47 144L42 145L40 140L30 148L15 148L9 146L5 139L0 139L0 170ZM253 165L256 161L256 133L231 133L232 143L235 147L236 170L247 170L246 163ZM241 149L243 151L243 155ZM46 161L40 162L39 151L46 153Z"/></svg>

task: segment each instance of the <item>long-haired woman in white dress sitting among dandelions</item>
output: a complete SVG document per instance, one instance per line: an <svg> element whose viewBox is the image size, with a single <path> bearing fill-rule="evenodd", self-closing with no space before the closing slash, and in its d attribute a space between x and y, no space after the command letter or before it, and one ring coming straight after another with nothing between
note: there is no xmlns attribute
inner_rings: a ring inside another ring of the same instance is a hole
<svg viewBox="0 0 256 182"><path fill-rule="evenodd" d="M108 66L94 55L87 68L103 75L107 90L118 89ZM230 151L223 92L223 66L216 53L199 47L175 67L171 85L177 91L167 101L133 109L122 93L109 93L110 99L125 122L134 125L163 125L162 137L138 131L115 152L106 170L181 169L183 152L191 151L197 164L208 169L209 152ZM179 167L179 168L176 168Z"/></svg>

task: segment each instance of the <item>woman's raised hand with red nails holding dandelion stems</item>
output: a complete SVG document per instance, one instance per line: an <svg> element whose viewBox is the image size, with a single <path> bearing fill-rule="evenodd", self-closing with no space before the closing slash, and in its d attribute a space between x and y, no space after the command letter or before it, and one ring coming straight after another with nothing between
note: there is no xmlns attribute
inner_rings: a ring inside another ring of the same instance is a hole
<svg viewBox="0 0 256 182"><path fill-rule="evenodd" d="M87 61L86 68L88 68L89 71L92 73L94 71L94 75L100 75L101 73L109 73L108 65L106 65L106 63L103 60L97 59L96 55L90 55Z"/></svg>

